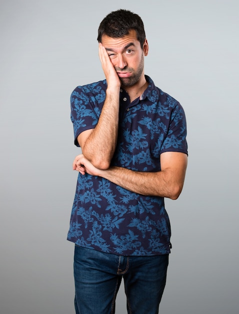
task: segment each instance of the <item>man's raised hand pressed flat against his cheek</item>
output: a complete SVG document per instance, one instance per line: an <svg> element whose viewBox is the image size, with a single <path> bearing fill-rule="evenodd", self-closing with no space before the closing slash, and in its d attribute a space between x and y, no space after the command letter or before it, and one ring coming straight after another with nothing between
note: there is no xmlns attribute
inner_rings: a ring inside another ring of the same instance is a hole
<svg viewBox="0 0 239 314"><path fill-rule="evenodd" d="M114 66L107 54L106 49L99 43L99 59L101 62L101 66L107 81L108 88L112 86L112 88L117 87L119 88L121 82L117 75L117 72L114 69Z"/></svg>

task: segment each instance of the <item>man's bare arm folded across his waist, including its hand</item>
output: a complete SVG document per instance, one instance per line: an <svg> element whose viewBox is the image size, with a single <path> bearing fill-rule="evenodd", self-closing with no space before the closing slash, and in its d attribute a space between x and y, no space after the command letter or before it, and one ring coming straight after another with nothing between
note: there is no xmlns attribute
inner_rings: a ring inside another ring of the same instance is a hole
<svg viewBox="0 0 239 314"><path fill-rule="evenodd" d="M134 193L175 200L182 191L187 155L182 152L164 152L160 155L160 164L161 171L154 173L136 172L121 167L98 170L81 154L76 156L73 170L79 171L82 175L88 173L105 178Z"/></svg>

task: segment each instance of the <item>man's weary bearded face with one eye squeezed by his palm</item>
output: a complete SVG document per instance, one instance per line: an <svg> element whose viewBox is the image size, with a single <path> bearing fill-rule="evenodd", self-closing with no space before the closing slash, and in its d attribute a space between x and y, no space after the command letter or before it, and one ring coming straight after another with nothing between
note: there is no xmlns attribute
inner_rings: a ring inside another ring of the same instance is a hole
<svg viewBox="0 0 239 314"><path fill-rule="evenodd" d="M144 56L148 53L146 40L141 48L136 32L131 30L128 35L121 38L103 35L102 45L123 86L130 87L144 80Z"/></svg>

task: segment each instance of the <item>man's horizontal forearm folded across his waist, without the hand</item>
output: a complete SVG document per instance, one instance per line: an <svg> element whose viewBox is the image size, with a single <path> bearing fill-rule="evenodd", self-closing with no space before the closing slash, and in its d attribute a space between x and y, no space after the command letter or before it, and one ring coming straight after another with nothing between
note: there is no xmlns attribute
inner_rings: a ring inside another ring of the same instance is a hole
<svg viewBox="0 0 239 314"><path fill-rule="evenodd" d="M184 177L176 180L170 171L136 172L120 167L99 171L99 176L134 193L177 199Z"/></svg>

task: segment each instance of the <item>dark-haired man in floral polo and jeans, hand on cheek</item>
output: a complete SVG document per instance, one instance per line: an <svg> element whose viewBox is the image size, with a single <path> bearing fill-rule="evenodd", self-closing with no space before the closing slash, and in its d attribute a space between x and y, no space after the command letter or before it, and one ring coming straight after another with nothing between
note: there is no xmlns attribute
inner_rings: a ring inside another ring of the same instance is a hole
<svg viewBox="0 0 239 314"><path fill-rule="evenodd" d="M79 172L68 240L75 243L76 314L158 313L170 253L164 197L177 199L187 164L180 104L144 75L143 23L111 12L98 29L105 80L71 94Z"/></svg>

